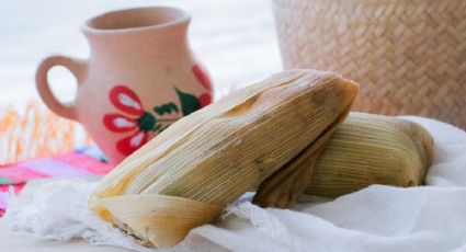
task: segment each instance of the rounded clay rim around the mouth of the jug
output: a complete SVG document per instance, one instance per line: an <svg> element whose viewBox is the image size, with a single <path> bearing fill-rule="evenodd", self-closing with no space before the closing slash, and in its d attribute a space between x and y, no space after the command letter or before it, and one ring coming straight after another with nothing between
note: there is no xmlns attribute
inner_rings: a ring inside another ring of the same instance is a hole
<svg viewBox="0 0 466 252"><path fill-rule="evenodd" d="M145 25L145 26L135 26L135 27L123 27L123 28L98 28L93 27L91 25L91 22L103 19L106 15L116 14L116 13L124 13L124 12L134 12L134 11L140 11L140 10L172 10L179 12L180 16L177 19L170 20L168 22L163 22L160 24L151 24L151 25ZM95 35L105 35L105 34L127 34L127 33L136 33L136 32L146 32L157 28L163 28L168 26L174 26L178 24L187 23L191 20L191 15L184 11L181 8L175 7L163 7L163 5L157 5L157 7L140 7L140 8L129 8L129 9L120 9L114 11L107 11L99 15L94 15L87 20L81 25L81 31L84 34L95 34Z"/></svg>

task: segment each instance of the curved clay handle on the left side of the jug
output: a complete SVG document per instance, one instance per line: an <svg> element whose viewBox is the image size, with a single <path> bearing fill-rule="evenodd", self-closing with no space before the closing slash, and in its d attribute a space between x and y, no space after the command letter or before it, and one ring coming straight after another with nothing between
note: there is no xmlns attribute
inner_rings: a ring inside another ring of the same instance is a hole
<svg viewBox="0 0 466 252"><path fill-rule="evenodd" d="M50 56L45 58L37 67L35 83L44 103L53 111L55 114L62 116L65 118L77 121L77 113L75 107L75 102L71 103L61 103L57 100L54 93L50 90L47 80L48 71L55 66L62 66L67 68L76 77L78 87L82 79L82 75L86 70L86 62L80 59L72 59L66 56Z"/></svg>

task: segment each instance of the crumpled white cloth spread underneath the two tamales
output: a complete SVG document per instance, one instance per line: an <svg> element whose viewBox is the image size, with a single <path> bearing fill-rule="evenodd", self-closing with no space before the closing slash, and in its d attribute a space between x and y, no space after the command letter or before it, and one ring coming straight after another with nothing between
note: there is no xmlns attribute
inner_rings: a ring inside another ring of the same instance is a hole
<svg viewBox="0 0 466 252"><path fill-rule="evenodd" d="M406 118L420 123L434 137L435 157L428 186L373 185L334 201L304 197L295 210L263 209L240 201L227 209L219 224L192 230L173 250L204 241L191 248L268 252L466 251L466 133L433 119ZM87 209L87 197L95 182L52 183L35 188L29 199L19 197L12 202L7 211L11 230L61 241L75 237L145 250Z"/></svg>

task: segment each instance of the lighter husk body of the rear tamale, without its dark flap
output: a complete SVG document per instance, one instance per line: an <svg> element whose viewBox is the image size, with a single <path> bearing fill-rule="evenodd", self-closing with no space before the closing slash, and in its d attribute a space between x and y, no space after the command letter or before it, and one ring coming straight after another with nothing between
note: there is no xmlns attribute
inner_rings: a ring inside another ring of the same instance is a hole
<svg viewBox="0 0 466 252"><path fill-rule="evenodd" d="M351 113L317 159L306 193L338 197L371 184L421 185L432 159L433 139L422 126Z"/></svg>

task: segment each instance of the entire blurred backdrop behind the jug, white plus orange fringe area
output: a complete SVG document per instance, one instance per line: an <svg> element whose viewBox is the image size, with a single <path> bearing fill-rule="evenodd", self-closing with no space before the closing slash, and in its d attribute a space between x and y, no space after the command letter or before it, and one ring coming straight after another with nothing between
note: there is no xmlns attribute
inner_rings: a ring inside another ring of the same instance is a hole
<svg viewBox="0 0 466 252"><path fill-rule="evenodd" d="M271 0L0 1L0 167L92 144L82 126L45 107L35 88L36 67L53 54L88 58L81 24L145 5L191 13L191 47L213 79L214 99L282 68ZM61 102L75 99L76 79L67 69L55 67L48 78Z"/></svg>

